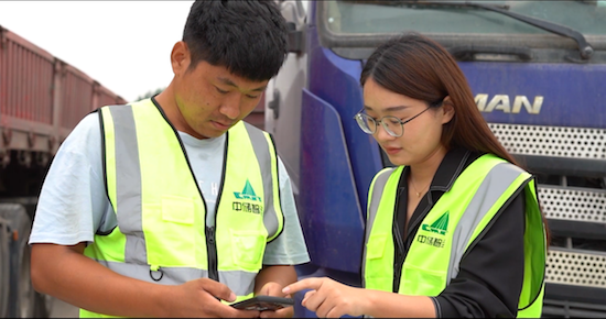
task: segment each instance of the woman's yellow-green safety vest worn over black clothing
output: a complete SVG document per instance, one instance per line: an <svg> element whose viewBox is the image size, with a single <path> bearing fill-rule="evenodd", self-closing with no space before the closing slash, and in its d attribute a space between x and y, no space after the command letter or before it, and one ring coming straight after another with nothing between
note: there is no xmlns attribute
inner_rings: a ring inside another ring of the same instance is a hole
<svg viewBox="0 0 606 319"><path fill-rule="evenodd" d="M365 287L391 292L393 284L392 220L403 167L379 172L370 187ZM437 296L458 274L463 255L517 191L527 198L524 280L518 317L540 317L547 245L544 226L531 175L494 155L472 163L425 216L405 257L400 294ZM538 230L543 230L542 232Z"/></svg>

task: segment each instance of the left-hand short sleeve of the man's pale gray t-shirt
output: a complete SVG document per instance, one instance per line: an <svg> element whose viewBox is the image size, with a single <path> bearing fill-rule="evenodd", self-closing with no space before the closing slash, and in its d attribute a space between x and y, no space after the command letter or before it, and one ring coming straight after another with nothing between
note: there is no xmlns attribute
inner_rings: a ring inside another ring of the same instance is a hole
<svg viewBox="0 0 606 319"><path fill-rule="evenodd" d="M111 207L101 165L99 116L90 113L62 143L51 164L37 201L30 244L93 242Z"/></svg>

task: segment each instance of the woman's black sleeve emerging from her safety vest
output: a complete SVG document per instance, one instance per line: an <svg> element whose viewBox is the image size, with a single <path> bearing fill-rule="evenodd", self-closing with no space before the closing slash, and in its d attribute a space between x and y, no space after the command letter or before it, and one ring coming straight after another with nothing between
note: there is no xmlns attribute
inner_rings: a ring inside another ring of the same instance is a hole
<svg viewBox="0 0 606 319"><path fill-rule="evenodd" d="M515 318L523 280L524 193L498 216L435 297L444 318Z"/></svg>

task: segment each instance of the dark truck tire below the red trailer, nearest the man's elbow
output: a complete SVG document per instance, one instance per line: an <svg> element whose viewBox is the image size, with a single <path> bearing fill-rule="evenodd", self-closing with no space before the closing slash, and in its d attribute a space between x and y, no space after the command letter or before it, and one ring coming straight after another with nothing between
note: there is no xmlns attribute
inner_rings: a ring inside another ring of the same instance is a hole
<svg viewBox="0 0 606 319"><path fill-rule="evenodd" d="M8 317L32 318L35 292L30 276L30 231L32 220L19 204L0 204L0 218L9 224L10 279Z"/></svg>

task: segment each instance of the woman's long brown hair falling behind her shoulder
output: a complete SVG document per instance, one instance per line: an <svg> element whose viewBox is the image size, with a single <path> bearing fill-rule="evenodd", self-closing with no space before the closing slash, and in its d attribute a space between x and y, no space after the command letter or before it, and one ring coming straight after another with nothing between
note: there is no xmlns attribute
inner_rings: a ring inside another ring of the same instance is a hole
<svg viewBox="0 0 606 319"><path fill-rule="evenodd" d="M455 112L453 119L444 124L442 144L447 150L464 147L491 153L520 166L488 128L465 75L439 43L419 33L388 40L368 58L360 85L364 86L369 78L392 92L426 101L430 106L440 106L437 102L451 97ZM548 231L544 215L543 222Z"/></svg>

